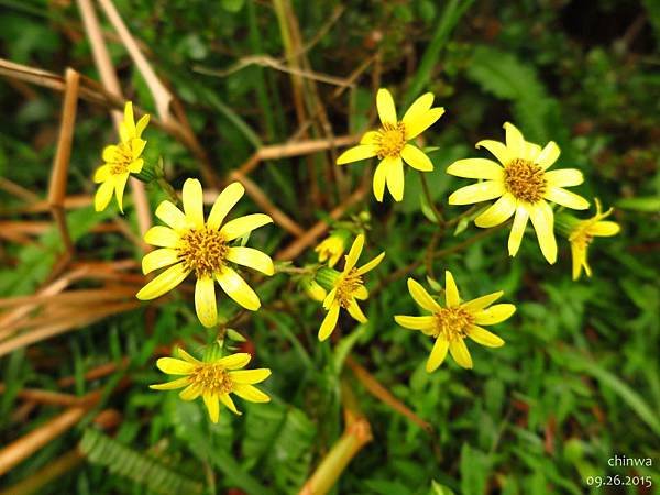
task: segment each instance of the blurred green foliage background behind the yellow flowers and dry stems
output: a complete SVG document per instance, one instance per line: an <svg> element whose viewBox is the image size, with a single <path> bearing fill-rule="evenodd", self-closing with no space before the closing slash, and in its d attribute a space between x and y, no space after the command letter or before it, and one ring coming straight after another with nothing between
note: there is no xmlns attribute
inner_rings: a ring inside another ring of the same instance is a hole
<svg viewBox="0 0 660 495"><path fill-rule="evenodd" d="M116 4L148 47L160 75L183 100L218 174L238 167L256 146L283 142L295 132L286 74L255 65L226 77L199 72L227 69L255 54L282 57L282 37L268 2L118 0ZM200 404L147 388L163 380L153 358L158 345L187 341L196 350L204 341L190 302L183 297L160 307L151 334L139 310L42 343L37 354L14 352L0 361L7 385L0 396L3 444L57 414L42 407L29 421L12 422L11 411L20 404L18 391L56 389L56 378L72 374L78 377L77 394L106 391L103 406L121 411L122 421L112 439L85 425L69 431L1 479L1 486L30 477L85 439L89 462L40 493L229 493L231 487L250 494L296 493L342 431L339 378L343 358L351 352L436 430L429 435L396 415L346 371L374 440L349 465L336 493L657 493L660 4L652 0L293 4L305 40L311 40L336 9L343 9L308 52L315 70L345 77L378 50L381 85L395 94L399 105L429 90L446 107L446 116L425 138L427 145L438 146L429 180L447 216L463 211L447 206L449 191L463 185L444 173L447 165L477 156L472 145L481 139L503 139L502 123L510 120L531 141L558 142L559 163L585 175L584 185L575 190L614 206L620 235L592 244L594 277L576 283L570 276L566 242L560 241L559 261L549 266L531 232L516 258L506 256L502 231L438 261L436 275L451 270L465 299L504 288L506 301L518 306L515 317L495 329L507 342L504 348L471 345L475 362L471 372L450 360L433 374L424 371L430 340L393 320L395 314L415 311L405 277L369 300L366 324L353 328L353 322L343 321L342 343L330 345L316 341L319 306L296 292L288 276L277 275L258 290L263 310L241 328L255 345L255 363L274 372L265 385L274 400L241 403L242 417L223 410L217 426L209 424ZM110 47L127 95L153 110L144 80L121 45ZM0 1L0 53L16 63L56 73L73 66L98 78L75 2ZM321 99L329 101L334 87L319 84L319 88ZM328 105L336 134L363 130L373 101L367 72L355 89ZM61 97L2 79L0 102L0 175L45 197ZM146 139L147 160L162 155L177 187L189 176L199 177L198 163L180 144L153 128ZM106 110L82 103L69 194L94 191L90 177L100 150L113 140ZM356 184L365 165L345 169ZM301 224L310 226L324 215L299 194L306 184L304 158L264 163L253 178ZM150 194L155 205L160 195ZM327 205L336 200L330 188L323 195ZM361 206L372 216L367 254L387 252L370 278L372 287L422 256L432 235L435 227L420 211L417 176L407 175L405 195L402 205L378 205L369 197ZM0 201L3 211L16 204L4 191ZM256 211L249 200L240 208ZM127 220L135 227L133 208L127 211ZM119 235L90 233L112 215L111 210L92 215L90 209L69 215L84 257L139 257L138 252L127 253L132 248ZM3 215L3 219L19 217ZM290 241L275 227L262 230L252 244L266 252ZM455 237L450 233L439 248L476 231L470 226ZM3 241L0 295L34 292L61 249L55 231L31 246ZM296 263L314 258L309 251ZM422 268L414 274L420 280L425 275ZM290 309L282 310L283 306ZM235 311L227 299L221 307ZM121 374L91 383L81 378L86 370L123 356L130 365ZM40 365L40 359L55 360L56 365ZM111 395L122 376L131 378L130 388ZM651 458L653 465L613 469L607 460L614 454ZM654 486L647 492L586 486L587 476L607 474L649 475Z"/></svg>

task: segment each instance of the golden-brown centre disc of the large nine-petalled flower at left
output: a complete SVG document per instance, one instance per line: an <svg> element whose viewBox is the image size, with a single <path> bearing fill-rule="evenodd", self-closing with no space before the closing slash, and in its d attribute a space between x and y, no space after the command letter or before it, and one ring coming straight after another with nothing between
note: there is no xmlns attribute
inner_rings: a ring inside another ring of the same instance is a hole
<svg viewBox="0 0 660 495"><path fill-rule="evenodd" d="M212 276L224 265L229 246L217 230L190 229L182 235L179 256L188 270L195 271L197 278Z"/></svg>

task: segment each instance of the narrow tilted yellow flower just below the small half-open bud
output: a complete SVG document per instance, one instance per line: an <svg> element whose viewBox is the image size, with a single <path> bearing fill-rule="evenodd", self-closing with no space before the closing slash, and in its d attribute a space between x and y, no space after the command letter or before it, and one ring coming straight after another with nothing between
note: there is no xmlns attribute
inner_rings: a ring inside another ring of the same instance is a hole
<svg viewBox="0 0 660 495"><path fill-rule="evenodd" d="M328 315L326 315L326 318L323 318L323 322L319 329L320 341L323 341L330 337L334 330L334 327L337 327L340 308L346 309L349 315L351 315L361 323L366 322L366 317L358 305L358 299L364 300L369 297L369 290L362 283L362 275L378 266L378 264L383 261L383 257L385 257L385 253L378 254L372 261L358 268L355 265L358 264L360 254L362 254L363 246L364 235L360 234L358 238L355 238L349 254L345 256L346 262L343 272L337 274L332 280L332 288L323 300L323 308L328 311Z"/></svg>

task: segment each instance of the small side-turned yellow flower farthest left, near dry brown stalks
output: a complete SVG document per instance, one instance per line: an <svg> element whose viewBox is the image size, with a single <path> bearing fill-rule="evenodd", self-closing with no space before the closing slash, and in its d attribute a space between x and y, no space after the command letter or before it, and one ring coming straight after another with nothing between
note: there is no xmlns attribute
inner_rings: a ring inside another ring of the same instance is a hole
<svg viewBox="0 0 660 495"><path fill-rule="evenodd" d="M140 157L146 145L142 132L148 123L150 116L143 116L138 123L133 118L133 103L127 102L124 119L119 125L121 142L111 144L103 150L103 165L97 168L94 182L100 184L94 198L94 207L102 211L112 199L112 191L117 197L119 209L123 212L123 191L131 174L142 170L144 161Z"/></svg>

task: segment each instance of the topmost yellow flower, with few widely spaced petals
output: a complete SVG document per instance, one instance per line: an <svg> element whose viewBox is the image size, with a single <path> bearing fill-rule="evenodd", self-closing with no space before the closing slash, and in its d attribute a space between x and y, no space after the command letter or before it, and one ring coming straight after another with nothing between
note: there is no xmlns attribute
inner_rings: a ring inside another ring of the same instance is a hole
<svg viewBox="0 0 660 495"><path fill-rule="evenodd" d="M337 164L344 165L377 156L381 163L374 173L374 196L382 201L387 183L392 197L400 201L404 199L404 161L418 170L433 169L426 153L408 143L444 113L442 107L431 108L432 105L433 95L427 92L415 100L402 120L397 120L392 94L385 88L378 89L376 107L381 129L365 133L358 146L346 150L337 158Z"/></svg>

